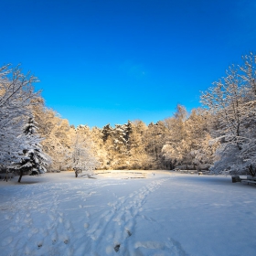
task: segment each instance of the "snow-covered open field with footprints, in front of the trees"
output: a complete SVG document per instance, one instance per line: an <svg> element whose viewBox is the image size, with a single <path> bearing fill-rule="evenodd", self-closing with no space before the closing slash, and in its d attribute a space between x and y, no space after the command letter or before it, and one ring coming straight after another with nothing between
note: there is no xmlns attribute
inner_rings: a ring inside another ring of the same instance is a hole
<svg viewBox="0 0 256 256"><path fill-rule="evenodd" d="M138 172L1 181L0 255L256 255L255 186Z"/></svg>

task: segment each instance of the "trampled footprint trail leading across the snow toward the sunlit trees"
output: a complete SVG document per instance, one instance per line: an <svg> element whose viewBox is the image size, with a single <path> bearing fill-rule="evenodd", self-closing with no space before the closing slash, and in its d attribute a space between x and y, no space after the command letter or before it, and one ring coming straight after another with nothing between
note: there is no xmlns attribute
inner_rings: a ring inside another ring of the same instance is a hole
<svg viewBox="0 0 256 256"><path fill-rule="evenodd" d="M100 220L96 222L87 234L94 240L89 240L91 255L113 254L120 251L121 255L131 255L129 239L133 236L137 217L143 211L147 197L154 193L168 178L152 181L147 186L132 192L126 197L119 197L114 202L109 202L110 209L104 211ZM148 219L148 221L152 221ZM159 244L136 242L135 249L139 247L158 249ZM134 251L135 253L135 251Z"/></svg>

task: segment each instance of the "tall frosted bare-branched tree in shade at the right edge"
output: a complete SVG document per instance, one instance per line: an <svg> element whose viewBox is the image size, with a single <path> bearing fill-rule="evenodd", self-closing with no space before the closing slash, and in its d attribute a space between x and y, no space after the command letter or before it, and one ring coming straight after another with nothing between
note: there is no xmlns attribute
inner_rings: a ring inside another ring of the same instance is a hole
<svg viewBox="0 0 256 256"><path fill-rule="evenodd" d="M212 116L212 136L220 145L212 170L256 175L256 56L232 65L227 76L201 96Z"/></svg>

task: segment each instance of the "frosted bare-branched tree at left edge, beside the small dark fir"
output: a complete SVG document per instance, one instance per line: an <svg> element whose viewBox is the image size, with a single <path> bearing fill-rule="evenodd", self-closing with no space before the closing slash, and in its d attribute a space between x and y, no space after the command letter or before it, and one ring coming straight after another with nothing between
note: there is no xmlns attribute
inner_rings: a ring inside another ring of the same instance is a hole
<svg viewBox="0 0 256 256"><path fill-rule="evenodd" d="M0 165L11 168L23 159L27 144L24 125L32 117L31 106L36 105L39 94L34 92L37 78L24 75L18 67L0 68Z"/></svg>

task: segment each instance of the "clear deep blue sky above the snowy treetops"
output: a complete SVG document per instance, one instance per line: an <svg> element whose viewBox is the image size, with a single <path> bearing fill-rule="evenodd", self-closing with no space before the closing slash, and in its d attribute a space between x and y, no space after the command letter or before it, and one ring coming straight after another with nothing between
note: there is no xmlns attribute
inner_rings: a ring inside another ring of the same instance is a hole
<svg viewBox="0 0 256 256"><path fill-rule="evenodd" d="M70 124L157 122L255 52L254 0L1 0L0 65L21 63Z"/></svg>

